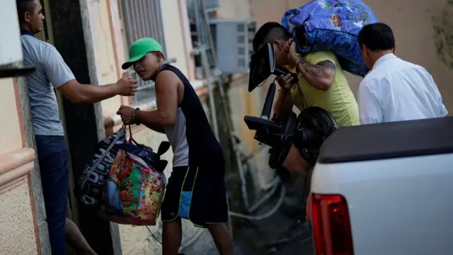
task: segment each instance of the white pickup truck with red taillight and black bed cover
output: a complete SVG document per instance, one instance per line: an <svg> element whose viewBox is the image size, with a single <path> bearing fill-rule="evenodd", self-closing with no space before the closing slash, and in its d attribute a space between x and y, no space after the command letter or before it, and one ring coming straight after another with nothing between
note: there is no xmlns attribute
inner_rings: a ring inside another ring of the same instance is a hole
<svg viewBox="0 0 453 255"><path fill-rule="evenodd" d="M316 254L453 254L453 117L360 125L323 143Z"/></svg>

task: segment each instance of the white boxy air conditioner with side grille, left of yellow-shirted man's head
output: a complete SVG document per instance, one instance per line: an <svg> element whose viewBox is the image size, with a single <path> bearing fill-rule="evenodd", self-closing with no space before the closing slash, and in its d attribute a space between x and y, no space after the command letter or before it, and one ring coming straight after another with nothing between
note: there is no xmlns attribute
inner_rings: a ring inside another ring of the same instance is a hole
<svg viewBox="0 0 453 255"><path fill-rule="evenodd" d="M210 23L219 70L224 74L248 74L256 21L251 18L217 19Z"/></svg>

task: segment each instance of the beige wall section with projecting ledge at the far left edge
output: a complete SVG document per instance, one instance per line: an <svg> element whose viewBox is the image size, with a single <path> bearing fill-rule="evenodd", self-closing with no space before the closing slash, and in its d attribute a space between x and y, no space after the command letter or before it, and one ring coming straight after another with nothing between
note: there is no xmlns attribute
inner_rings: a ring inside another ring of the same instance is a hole
<svg viewBox="0 0 453 255"><path fill-rule="evenodd" d="M0 254L37 254L38 224L30 186L35 152L26 147L16 79L0 79Z"/></svg>

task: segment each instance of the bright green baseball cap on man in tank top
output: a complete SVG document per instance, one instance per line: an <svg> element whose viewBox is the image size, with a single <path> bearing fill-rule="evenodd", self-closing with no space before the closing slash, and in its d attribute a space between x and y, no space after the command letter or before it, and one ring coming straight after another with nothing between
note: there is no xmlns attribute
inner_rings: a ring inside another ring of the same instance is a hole
<svg viewBox="0 0 453 255"><path fill-rule="evenodd" d="M148 52L161 52L164 54L162 50L162 46L154 40L153 38L141 38L136 40L135 42L130 45L129 49L129 57L130 59L127 60L124 64L122 64L122 69L128 69L134 62L139 61L147 55Z"/></svg>

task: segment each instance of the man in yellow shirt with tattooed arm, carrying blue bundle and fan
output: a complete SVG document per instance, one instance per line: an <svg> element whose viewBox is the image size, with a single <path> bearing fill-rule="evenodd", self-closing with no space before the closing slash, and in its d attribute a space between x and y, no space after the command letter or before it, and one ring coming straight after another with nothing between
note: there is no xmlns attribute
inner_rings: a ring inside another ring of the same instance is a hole
<svg viewBox="0 0 453 255"><path fill-rule="evenodd" d="M277 77L280 85L274 103L277 117L285 117L291 113L293 106L300 111L310 106L318 106L331 113L340 126L360 124L357 101L333 52L299 54L292 35L276 22L265 23L258 29L253 39L253 50L257 51L265 43L273 45L277 65L287 67L289 72L297 74L299 79L298 84L293 84L291 74ZM283 166L292 174L310 174L308 164L294 146L291 147Z"/></svg>

